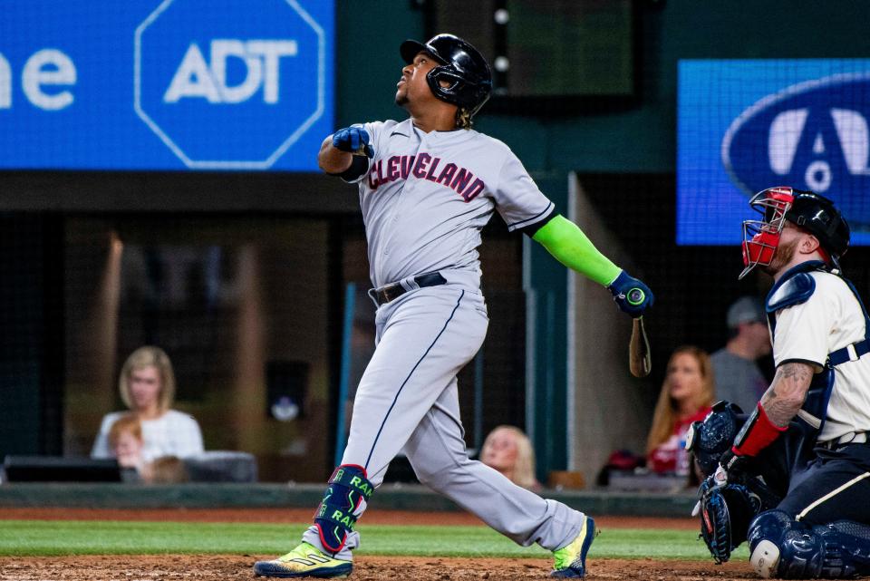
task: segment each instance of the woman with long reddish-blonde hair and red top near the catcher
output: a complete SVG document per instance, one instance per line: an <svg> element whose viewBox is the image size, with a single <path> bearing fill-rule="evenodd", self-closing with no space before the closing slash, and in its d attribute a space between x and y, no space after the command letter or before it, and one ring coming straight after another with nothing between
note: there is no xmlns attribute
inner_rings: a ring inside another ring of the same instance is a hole
<svg viewBox="0 0 870 581"><path fill-rule="evenodd" d="M646 441L647 468L660 474L690 474L686 432L692 421L710 412L713 397L710 356L691 345L674 350Z"/></svg>

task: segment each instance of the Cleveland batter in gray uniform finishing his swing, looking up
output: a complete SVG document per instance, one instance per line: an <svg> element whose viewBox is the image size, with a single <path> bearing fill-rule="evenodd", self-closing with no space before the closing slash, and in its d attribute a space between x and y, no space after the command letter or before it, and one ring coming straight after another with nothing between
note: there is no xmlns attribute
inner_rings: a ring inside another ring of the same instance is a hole
<svg viewBox="0 0 870 581"><path fill-rule="evenodd" d="M377 348L353 403L342 465L293 551L254 566L256 575L346 576L360 543L353 526L400 451L418 479L523 546L554 552L559 577L585 575L594 520L522 489L469 460L459 421L457 373L487 332L477 247L494 212L511 231L543 244L565 265L639 316L652 293L599 253L507 146L471 130L488 100L489 66L452 34L400 47L406 65L396 103L409 119L376 121L324 140L320 166L359 184ZM635 299L626 296L630 291Z"/></svg>

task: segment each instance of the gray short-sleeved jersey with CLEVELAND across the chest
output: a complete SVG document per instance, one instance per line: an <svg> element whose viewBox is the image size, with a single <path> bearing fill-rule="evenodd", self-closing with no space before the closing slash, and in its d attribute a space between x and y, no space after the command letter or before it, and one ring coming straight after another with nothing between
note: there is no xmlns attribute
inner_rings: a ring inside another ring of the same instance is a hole
<svg viewBox="0 0 870 581"><path fill-rule="evenodd" d="M356 180L375 287L443 270L478 288L480 229L493 210L509 230L554 210L499 140L473 130L425 133L410 119L362 127L375 152Z"/></svg>

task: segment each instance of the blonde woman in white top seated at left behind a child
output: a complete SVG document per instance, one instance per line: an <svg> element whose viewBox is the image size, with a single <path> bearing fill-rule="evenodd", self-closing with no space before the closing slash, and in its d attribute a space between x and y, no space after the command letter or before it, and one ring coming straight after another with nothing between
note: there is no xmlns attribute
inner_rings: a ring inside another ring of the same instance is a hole
<svg viewBox="0 0 870 581"><path fill-rule="evenodd" d="M142 461L161 456L185 458L203 451L199 424L187 413L170 409L175 400L175 373L159 347L140 347L127 358L118 381L121 400L142 426ZM92 458L112 458L109 432L127 412L106 414L91 450Z"/></svg>

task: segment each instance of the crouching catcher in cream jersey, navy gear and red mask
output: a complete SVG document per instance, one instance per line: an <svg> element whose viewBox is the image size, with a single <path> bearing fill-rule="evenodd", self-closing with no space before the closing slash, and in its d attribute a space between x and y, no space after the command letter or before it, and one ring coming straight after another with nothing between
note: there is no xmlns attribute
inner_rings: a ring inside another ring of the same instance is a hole
<svg viewBox="0 0 870 581"><path fill-rule="evenodd" d="M840 271L849 227L830 199L770 188L743 223L746 276L773 276L766 301L777 372L748 415L719 402L687 447L706 475L701 537L718 562L744 540L762 577L870 575L870 340Z"/></svg>

